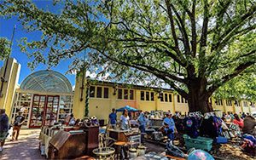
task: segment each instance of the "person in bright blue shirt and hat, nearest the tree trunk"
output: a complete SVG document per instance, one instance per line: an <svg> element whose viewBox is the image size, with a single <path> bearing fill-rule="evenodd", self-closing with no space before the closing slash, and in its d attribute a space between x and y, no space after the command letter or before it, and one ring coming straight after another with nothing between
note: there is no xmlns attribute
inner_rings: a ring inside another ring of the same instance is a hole
<svg viewBox="0 0 256 160"><path fill-rule="evenodd" d="M166 117L163 121L164 132L167 135L168 139L174 140L174 133L177 132L175 128L174 120L172 119L172 114L166 112Z"/></svg>

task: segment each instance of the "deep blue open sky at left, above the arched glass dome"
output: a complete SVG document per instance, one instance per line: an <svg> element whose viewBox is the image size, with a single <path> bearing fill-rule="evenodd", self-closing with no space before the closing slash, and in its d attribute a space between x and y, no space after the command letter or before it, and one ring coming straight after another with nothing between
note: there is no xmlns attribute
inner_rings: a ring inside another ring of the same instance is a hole
<svg viewBox="0 0 256 160"><path fill-rule="evenodd" d="M35 1L35 3L39 8L49 9L49 11L53 11L53 12L60 11L61 9L60 7L59 8L57 7L57 10L56 10L56 7L53 7L51 5L52 1L40 0L40 1ZM28 68L26 65L27 62L29 62L30 60L27 58L26 54L20 52L18 41L20 40L21 37L27 37L28 41L38 40L41 36L41 33L40 31L36 31L32 33L27 32L26 30L23 29L20 22L15 17L9 20L4 19L3 17L0 17L0 37L7 37L10 40L14 25L16 25L16 29L15 29L15 39L12 47L11 57L14 57L21 65L20 79L19 79L19 83L21 83L25 79L25 77L31 74L33 71L31 71L31 69ZM62 60L58 66L51 67L51 69L54 71L59 71L62 74L65 74L65 72L68 70L68 65L71 63L71 61L72 60L65 60L65 61ZM1 60L0 60L0 66L3 66L3 61ZM47 69L47 67L48 66L39 65L34 71L45 70ZM75 76L70 74L67 74L65 76L69 79L70 83L74 85Z"/></svg>

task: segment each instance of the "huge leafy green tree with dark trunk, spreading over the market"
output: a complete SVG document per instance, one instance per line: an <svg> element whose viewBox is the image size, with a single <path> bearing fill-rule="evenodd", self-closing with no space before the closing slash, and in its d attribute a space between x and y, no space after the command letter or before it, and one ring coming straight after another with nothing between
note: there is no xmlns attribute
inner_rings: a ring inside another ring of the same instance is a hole
<svg viewBox="0 0 256 160"><path fill-rule="evenodd" d="M212 111L212 93L256 62L254 0L71 0L57 6L60 13L27 1L1 3L3 15L43 33L41 41L24 39L21 46L34 58L32 66L76 56L76 68L88 49L90 71L167 83L188 100L189 111Z"/></svg>

